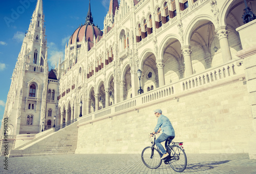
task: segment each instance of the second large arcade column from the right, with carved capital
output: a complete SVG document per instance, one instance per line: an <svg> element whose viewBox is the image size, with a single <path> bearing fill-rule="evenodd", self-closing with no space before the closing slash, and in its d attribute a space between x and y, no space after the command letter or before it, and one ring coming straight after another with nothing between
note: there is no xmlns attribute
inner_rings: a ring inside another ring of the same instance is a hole
<svg viewBox="0 0 256 174"><path fill-rule="evenodd" d="M183 46L181 47L181 54L184 57L184 64L185 64L185 77L188 77L193 74L192 62L191 62L191 53L190 46Z"/></svg>

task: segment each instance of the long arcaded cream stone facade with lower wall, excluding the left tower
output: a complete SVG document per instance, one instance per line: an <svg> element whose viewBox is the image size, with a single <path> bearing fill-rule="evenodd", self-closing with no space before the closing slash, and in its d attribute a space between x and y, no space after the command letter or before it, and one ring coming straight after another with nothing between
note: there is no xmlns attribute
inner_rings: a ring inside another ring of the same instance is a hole
<svg viewBox="0 0 256 174"><path fill-rule="evenodd" d="M113 10L116 2L90 38L79 33L97 28L89 6L55 70L56 124L78 120L76 153L139 153L159 107L189 153L254 158L255 56L242 53L254 48L255 22L242 23L244 2L121 0Z"/></svg>

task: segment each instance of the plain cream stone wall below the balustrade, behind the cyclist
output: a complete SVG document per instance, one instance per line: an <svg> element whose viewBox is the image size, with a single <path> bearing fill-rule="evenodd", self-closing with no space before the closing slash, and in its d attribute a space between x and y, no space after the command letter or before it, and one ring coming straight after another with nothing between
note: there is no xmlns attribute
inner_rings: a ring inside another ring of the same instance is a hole
<svg viewBox="0 0 256 174"><path fill-rule="evenodd" d="M240 79L240 80L239 80ZM77 154L141 153L151 145L148 134L161 108L172 122L175 141L183 141L187 153L248 153L252 132L251 110L244 78L196 88L125 113L78 125Z"/></svg>

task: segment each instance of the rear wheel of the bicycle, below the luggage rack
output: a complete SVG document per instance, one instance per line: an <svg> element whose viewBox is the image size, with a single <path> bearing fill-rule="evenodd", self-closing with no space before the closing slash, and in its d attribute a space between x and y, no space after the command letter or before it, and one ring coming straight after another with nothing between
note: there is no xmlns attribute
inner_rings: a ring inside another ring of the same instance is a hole
<svg viewBox="0 0 256 174"><path fill-rule="evenodd" d="M187 166L187 156L185 151L178 145L170 146L170 166L177 172L182 172Z"/></svg>

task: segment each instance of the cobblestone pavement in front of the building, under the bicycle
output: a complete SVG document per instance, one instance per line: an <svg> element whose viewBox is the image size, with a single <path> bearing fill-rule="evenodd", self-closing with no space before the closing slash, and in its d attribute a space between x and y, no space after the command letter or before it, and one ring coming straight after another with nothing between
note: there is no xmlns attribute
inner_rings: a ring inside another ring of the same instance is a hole
<svg viewBox="0 0 256 174"><path fill-rule="evenodd" d="M256 160L247 154L187 154L183 173L256 173ZM8 158L0 157L0 173L176 173L164 163L147 168L140 154L71 154Z"/></svg>

